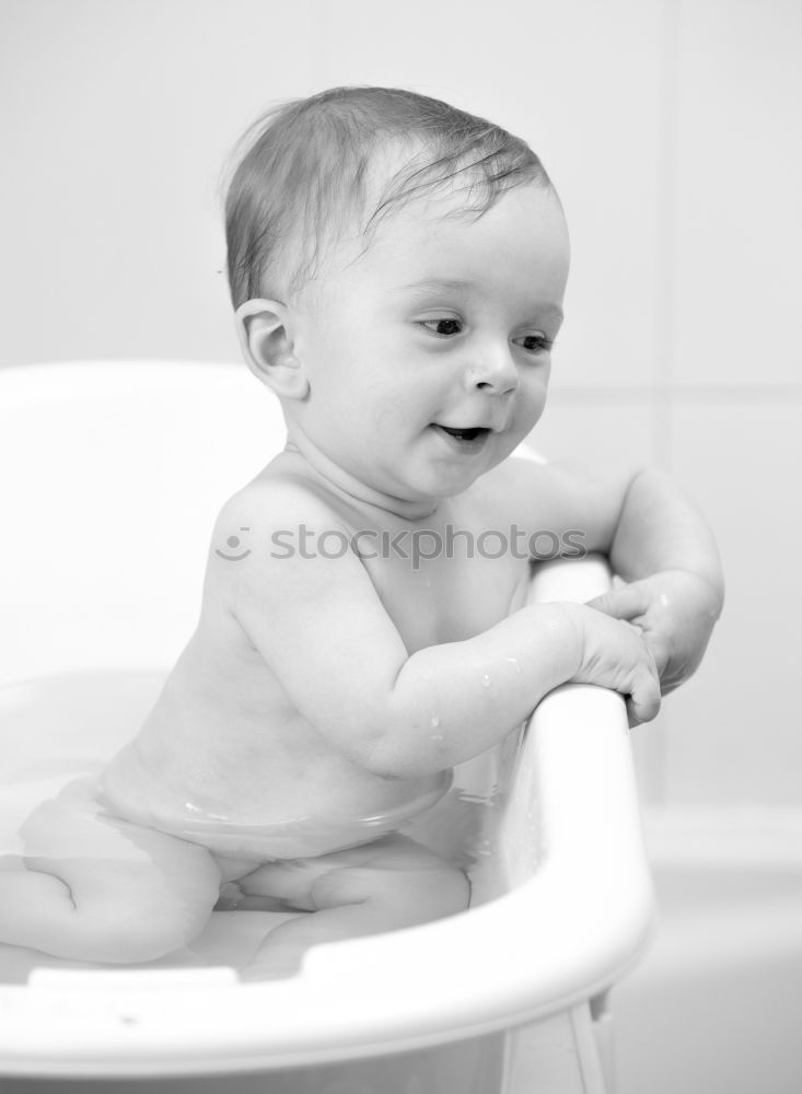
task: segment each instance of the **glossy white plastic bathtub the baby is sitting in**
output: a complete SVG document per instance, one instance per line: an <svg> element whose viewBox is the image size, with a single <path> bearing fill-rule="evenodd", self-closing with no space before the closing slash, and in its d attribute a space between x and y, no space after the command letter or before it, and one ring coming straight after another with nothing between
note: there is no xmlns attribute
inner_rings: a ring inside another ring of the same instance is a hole
<svg viewBox="0 0 802 1094"><path fill-rule="evenodd" d="M37 719L63 725L58 771L71 724L93 755L133 732L194 626L217 508L282 437L244 366L0 372L7 765L24 767ZM586 560L538 580L541 598L584 600L607 573ZM297 976L265 984L222 961L109 970L28 954L21 971L7 953L0 1089L58 1079L66 1094L92 1078L98 1092L125 1079L232 1094L602 1094L604 992L642 950L653 907L623 702L558 689L457 787L496 788L477 907L315 947Z"/></svg>

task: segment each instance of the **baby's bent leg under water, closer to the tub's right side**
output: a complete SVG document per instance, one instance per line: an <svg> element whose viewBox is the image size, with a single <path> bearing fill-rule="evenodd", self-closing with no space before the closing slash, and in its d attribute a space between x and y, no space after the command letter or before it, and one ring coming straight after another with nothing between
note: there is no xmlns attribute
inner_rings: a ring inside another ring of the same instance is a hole
<svg viewBox="0 0 802 1094"><path fill-rule="evenodd" d="M293 971L312 945L442 919L464 911L470 899L461 870L404 836L268 863L239 884L245 893L280 897L311 912L267 935L245 970L254 979Z"/></svg>

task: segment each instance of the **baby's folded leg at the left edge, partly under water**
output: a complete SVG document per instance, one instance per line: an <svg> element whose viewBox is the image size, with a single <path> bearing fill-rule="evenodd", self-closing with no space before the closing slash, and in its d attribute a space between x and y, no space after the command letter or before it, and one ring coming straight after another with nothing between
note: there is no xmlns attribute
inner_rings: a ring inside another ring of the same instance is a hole
<svg viewBox="0 0 802 1094"><path fill-rule="evenodd" d="M21 829L24 857L0 860L0 941L57 957L142 962L202 931L217 900L211 854L106 817L83 781Z"/></svg>

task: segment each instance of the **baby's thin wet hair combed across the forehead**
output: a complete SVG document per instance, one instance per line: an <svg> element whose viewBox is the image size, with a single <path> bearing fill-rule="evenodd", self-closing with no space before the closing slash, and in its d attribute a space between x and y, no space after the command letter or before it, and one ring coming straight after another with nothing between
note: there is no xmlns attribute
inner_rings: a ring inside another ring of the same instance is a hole
<svg viewBox="0 0 802 1094"><path fill-rule="evenodd" d="M379 200L367 216L381 153L396 150L402 166L379 179ZM383 218L411 199L466 189L466 203L449 216L480 217L512 186L551 186L525 141L397 88L333 88L283 102L251 126L234 154L225 194L234 307L255 296L294 295L354 224L367 249Z"/></svg>

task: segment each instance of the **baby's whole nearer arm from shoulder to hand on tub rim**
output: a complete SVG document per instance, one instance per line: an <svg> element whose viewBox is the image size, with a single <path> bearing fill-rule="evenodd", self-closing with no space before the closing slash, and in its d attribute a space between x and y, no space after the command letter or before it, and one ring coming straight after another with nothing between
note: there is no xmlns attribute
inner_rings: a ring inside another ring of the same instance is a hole
<svg viewBox="0 0 802 1094"><path fill-rule="evenodd" d="M259 513L270 513L269 526ZM269 504L234 509L224 523L252 529L252 554L228 571L243 631L295 709L376 775L412 778L478 755L568 680L618 690L635 720L656 713L653 660L625 622L582 605L531 606L409 655L356 554L271 551L274 528L336 528L330 511L313 513L309 497L299 503L275 487Z"/></svg>

